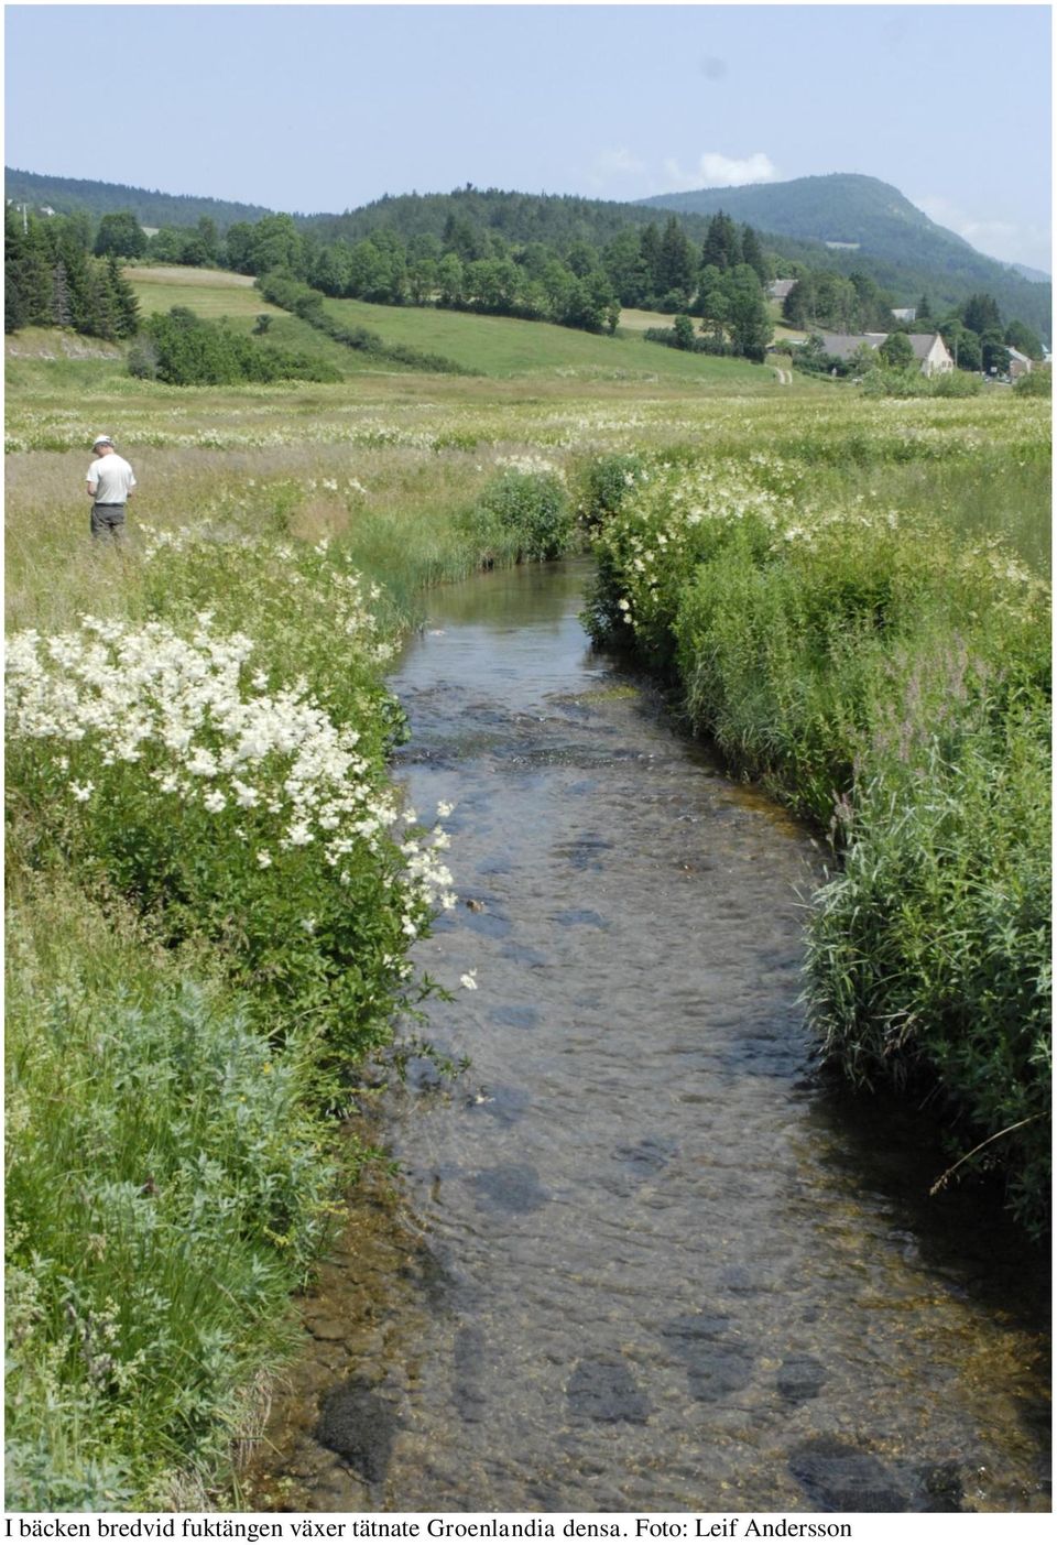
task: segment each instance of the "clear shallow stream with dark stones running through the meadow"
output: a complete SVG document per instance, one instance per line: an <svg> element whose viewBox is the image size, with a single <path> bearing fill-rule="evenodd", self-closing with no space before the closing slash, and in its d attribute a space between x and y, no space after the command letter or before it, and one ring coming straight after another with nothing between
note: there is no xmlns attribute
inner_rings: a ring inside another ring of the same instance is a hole
<svg viewBox="0 0 1057 1545"><path fill-rule="evenodd" d="M249 1496L315 1511L1045 1511L1048 1287L797 1007L822 853L589 649L583 564L431 596L400 777L448 986Z"/></svg>

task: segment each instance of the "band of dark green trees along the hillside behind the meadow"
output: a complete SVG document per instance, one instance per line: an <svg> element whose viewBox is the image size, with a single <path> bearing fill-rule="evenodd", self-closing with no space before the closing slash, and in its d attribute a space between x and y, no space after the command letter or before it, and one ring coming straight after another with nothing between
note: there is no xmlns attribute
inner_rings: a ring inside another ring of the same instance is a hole
<svg viewBox="0 0 1057 1545"><path fill-rule="evenodd" d="M535 202L550 207L547 199ZM621 307L663 311L675 314L675 326L654 329L649 338L753 360L763 358L773 331L766 284L785 275L796 280L782 307L791 326L907 331L892 317L892 295L867 272L844 275L782 260L763 250L751 226L739 226L723 212L703 221L700 241L671 215L663 224L651 219L618 229L600 246L575 233L583 230L573 218L583 201L566 202L570 235L562 247L512 241L474 219L479 212L467 199L448 207L440 235L419 230L405 236L380 222L359 239L349 239L340 221L306 227L292 215L235 221L226 232L201 215L195 226L162 227L148 236L130 210L105 213L93 226L87 213L40 218L8 205L6 328L54 324L107 338L133 337L136 300L117 264L142 260L226 267L257 278L278 273L317 297L522 317L590 332L613 332ZM309 311L323 331L337 326L318 306ZM940 331L966 371L1001 372L1009 348L1042 358L1038 335L1017 318L1003 323L997 301L986 294L941 315L921 297L912 326ZM377 352L380 340L366 329L352 329L357 332L363 337L338 341ZM417 355L416 362L425 368Z"/></svg>

